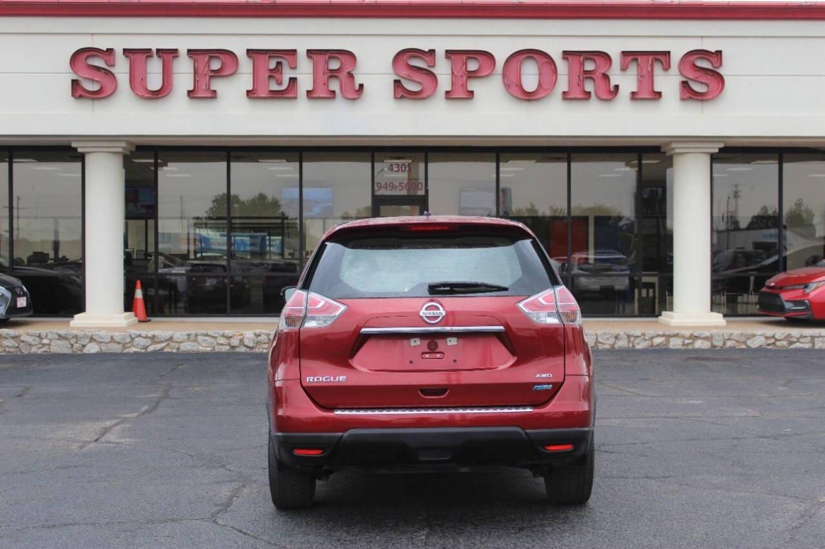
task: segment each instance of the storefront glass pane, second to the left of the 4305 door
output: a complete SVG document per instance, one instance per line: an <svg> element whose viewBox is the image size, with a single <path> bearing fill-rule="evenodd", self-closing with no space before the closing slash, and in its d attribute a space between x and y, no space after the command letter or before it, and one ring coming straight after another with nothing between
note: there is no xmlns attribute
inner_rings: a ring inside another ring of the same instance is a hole
<svg viewBox="0 0 825 549"><path fill-rule="evenodd" d="M298 283L297 153L233 152L230 312L281 312L281 289Z"/></svg>

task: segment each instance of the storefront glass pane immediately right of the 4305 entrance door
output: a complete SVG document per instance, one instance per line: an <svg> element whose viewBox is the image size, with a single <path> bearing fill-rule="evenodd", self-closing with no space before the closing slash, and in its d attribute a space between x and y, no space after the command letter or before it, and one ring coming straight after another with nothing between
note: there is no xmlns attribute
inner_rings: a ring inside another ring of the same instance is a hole
<svg viewBox="0 0 825 549"><path fill-rule="evenodd" d="M496 215L493 152L431 152L429 162L431 213Z"/></svg>

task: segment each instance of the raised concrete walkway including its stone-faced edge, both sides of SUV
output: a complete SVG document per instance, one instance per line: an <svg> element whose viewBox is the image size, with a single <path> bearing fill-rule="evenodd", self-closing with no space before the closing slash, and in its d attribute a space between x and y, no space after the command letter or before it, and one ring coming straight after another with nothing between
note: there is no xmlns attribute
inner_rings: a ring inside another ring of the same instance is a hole
<svg viewBox="0 0 825 549"><path fill-rule="evenodd" d="M655 319L584 321L594 349L825 349L825 323L777 318L728 320L728 326L672 328ZM68 319L21 319L0 330L0 354L143 351L265 352L276 317L163 318L134 329L80 329Z"/></svg>

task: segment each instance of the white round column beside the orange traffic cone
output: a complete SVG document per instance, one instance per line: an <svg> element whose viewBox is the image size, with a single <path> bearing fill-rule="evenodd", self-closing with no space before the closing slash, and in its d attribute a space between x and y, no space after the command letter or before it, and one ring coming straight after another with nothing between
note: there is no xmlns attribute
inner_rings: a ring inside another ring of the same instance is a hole
<svg viewBox="0 0 825 549"><path fill-rule="evenodd" d="M123 311L123 234L125 173L123 155L134 150L125 141L79 141L86 157L86 310L73 327L130 326L134 314Z"/></svg>

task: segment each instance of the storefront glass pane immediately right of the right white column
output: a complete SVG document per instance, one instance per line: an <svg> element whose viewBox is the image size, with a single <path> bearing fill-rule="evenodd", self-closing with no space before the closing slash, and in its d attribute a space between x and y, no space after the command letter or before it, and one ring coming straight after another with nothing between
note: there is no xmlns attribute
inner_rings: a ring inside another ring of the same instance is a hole
<svg viewBox="0 0 825 549"><path fill-rule="evenodd" d="M780 269L779 155L714 154L712 168L712 307L756 314L759 290Z"/></svg>

